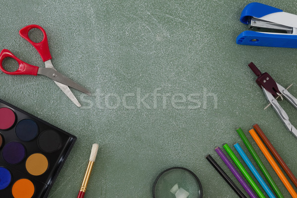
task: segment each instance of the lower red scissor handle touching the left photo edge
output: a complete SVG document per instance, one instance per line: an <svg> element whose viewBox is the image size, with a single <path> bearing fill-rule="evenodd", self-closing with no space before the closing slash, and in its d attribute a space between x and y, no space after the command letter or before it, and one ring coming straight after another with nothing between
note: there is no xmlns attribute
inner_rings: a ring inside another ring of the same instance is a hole
<svg viewBox="0 0 297 198"><path fill-rule="evenodd" d="M3 61L4 58L7 58L7 57L13 58L18 62L19 68L16 71L9 72L9 71L6 71L3 68L2 61ZM4 72L5 74L10 74L10 75L34 75L34 76L37 76L38 69L39 69L39 67L34 66L34 65L30 65L30 64L25 63L24 61L20 60L15 55L13 55L13 53L11 53L8 49L2 49L2 51L0 53L0 70L2 72Z"/></svg>

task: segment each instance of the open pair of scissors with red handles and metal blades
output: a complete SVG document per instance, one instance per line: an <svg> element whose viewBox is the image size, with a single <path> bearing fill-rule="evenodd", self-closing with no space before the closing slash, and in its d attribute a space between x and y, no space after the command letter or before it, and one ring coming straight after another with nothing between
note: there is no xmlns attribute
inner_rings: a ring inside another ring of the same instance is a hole
<svg viewBox="0 0 297 198"><path fill-rule="evenodd" d="M42 31L44 38L40 43L35 43L33 42L29 36L28 33L31 29L37 28ZM19 31L19 34L21 37L23 37L25 40L27 40L40 54L42 60L45 63L45 68L44 67L37 67L34 65L30 65L19 58L17 58L13 53L11 53L8 49L3 49L0 53L0 70L4 72L5 74L9 75L34 75L37 76L38 74L40 75L45 75L49 77L50 79L53 80L53 82L66 94L66 96L73 101L74 104L76 104L78 107L81 106L79 101L75 98L69 87L72 87L80 92L83 92L87 95L91 95L91 93L81 85L75 83L71 79L67 78L66 76L60 74L59 72L56 71L56 69L53 67L50 59L51 55L49 52L49 43L48 43L48 37L46 31L39 25L28 25L24 28L22 28ZM4 58L10 57L15 59L19 67L16 71L14 72L9 72L6 71L3 66L2 66L2 61ZM68 87L69 86L69 87Z"/></svg>

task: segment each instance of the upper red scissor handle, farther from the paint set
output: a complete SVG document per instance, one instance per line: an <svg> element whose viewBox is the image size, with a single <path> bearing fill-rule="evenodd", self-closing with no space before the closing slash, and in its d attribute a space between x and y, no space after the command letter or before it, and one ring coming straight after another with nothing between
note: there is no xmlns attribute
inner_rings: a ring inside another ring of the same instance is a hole
<svg viewBox="0 0 297 198"><path fill-rule="evenodd" d="M28 36L29 31L33 28L37 28L37 29L41 30L44 35L44 38L40 43L33 42ZM20 33L21 37L26 39L32 46L34 46L34 48L39 52L39 54L44 62L51 59L51 55L49 52L49 43L48 43L47 33L42 27L40 27L39 25L28 25L26 27L23 27L19 31L19 33Z"/></svg>

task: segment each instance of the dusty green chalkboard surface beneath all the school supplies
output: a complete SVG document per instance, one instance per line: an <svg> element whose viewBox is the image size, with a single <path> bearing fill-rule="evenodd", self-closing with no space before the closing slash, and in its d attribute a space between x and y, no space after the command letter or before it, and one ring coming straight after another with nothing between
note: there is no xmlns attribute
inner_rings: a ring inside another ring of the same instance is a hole
<svg viewBox="0 0 297 198"><path fill-rule="evenodd" d="M247 151L236 129L248 135L255 123L297 174L297 139L272 107L263 110L267 100L247 66L254 62L284 87L295 83L289 91L297 96L297 49L237 45L247 30L239 18L249 2L2 0L0 49L44 67L18 34L38 24L48 34L55 68L92 92L72 89L79 108L47 77L0 72L1 99L77 137L49 198L77 196L93 143L99 152L85 198L152 198L155 178L174 166L198 176L203 198L236 198L205 156L235 180L214 148L228 143L236 153L239 142ZM295 0L260 2L297 14ZM297 126L297 109L280 103Z"/></svg>

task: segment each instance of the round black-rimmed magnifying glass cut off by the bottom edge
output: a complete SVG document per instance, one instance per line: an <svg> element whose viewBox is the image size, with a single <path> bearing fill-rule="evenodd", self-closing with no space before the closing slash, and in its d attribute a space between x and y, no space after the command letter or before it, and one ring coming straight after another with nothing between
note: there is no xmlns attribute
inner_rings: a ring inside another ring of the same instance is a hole
<svg viewBox="0 0 297 198"><path fill-rule="evenodd" d="M152 193L153 198L202 198L202 186L189 169L173 167L158 175Z"/></svg>

